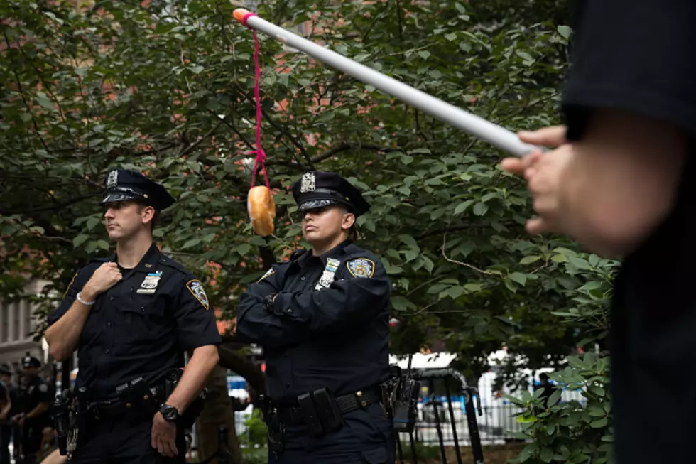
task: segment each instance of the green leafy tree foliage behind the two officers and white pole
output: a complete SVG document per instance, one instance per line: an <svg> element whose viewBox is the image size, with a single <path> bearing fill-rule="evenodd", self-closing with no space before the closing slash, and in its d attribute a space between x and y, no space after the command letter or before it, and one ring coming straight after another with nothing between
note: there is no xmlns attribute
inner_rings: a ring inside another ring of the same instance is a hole
<svg viewBox="0 0 696 464"><path fill-rule="evenodd" d="M295 0L263 2L259 14L517 130L559 121L565 3ZM504 153L263 34L262 146L278 217L273 237L256 237L245 154L254 148L254 41L233 7L78 5L0 1L6 298L21 295L26 277L48 281L49 311L77 266L108 252L98 201L105 174L121 166L178 198L156 239L232 318L245 286L302 245L288 187L317 169L342 173L372 203L359 229L393 280L393 351L444 342L475 382L489 352L505 346L513 381L519 363L555 367L587 330L606 330L570 309L589 307L577 298L594 298L604 276L588 272L599 258L524 232L528 195L500 170Z"/></svg>

